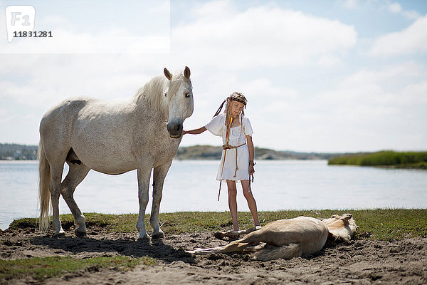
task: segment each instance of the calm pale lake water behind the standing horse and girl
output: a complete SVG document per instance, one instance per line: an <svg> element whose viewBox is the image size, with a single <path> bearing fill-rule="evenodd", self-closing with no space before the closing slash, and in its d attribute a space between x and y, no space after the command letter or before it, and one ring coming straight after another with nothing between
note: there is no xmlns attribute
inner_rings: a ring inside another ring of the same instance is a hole
<svg viewBox="0 0 427 285"><path fill-rule="evenodd" d="M226 211L227 187L215 180L218 161L175 160L167 175L161 212ZM66 171L66 169L65 169ZM253 195L259 210L427 208L427 171L375 167L328 166L326 160L258 161ZM38 164L0 162L0 228L13 219L37 217ZM240 185L238 185L239 189ZM150 201L147 213L151 210ZM78 186L75 200L83 212L138 212L137 175L91 171ZM248 211L241 190L239 211ZM60 199L60 212L70 213Z"/></svg>

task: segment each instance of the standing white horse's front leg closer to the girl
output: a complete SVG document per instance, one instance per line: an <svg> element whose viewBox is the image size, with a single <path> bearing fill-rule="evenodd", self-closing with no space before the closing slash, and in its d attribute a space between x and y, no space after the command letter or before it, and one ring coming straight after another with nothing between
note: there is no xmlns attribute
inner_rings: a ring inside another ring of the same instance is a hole
<svg viewBox="0 0 427 285"><path fill-rule="evenodd" d="M154 167L153 173L153 205L152 205L152 213L149 217L149 225L152 227L152 238L159 239L164 237L164 232L160 229L159 225L159 209L160 209L160 201L162 200L162 192L163 192L163 184L164 178L167 175L169 167L171 167L172 160L165 163L164 165L160 165Z"/></svg>

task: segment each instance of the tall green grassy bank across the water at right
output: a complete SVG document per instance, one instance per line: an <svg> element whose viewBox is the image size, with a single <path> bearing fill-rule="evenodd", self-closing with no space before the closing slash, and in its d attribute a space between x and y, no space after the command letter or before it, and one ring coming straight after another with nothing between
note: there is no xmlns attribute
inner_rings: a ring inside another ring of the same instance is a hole
<svg viewBox="0 0 427 285"><path fill-rule="evenodd" d="M371 153L354 153L331 158L327 164L427 169L427 152L394 152L384 150Z"/></svg>

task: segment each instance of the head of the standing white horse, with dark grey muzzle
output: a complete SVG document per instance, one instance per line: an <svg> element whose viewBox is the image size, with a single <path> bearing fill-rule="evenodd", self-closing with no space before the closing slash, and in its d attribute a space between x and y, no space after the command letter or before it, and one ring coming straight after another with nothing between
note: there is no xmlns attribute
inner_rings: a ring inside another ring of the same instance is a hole
<svg viewBox="0 0 427 285"><path fill-rule="evenodd" d="M167 131L171 138L180 138L182 123L193 114L193 87L190 81L190 68L185 67L184 73L169 73L164 68L164 76L169 79L169 86L164 95L167 98L169 119Z"/></svg>

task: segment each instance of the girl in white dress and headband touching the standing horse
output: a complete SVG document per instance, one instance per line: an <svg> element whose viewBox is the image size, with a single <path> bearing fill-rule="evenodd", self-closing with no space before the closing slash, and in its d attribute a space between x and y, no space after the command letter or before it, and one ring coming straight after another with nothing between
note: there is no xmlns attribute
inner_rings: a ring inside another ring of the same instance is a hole
<svg viewBox="0 0 427 285"><path fill-rule="evenodd" d="M226 103L223 114L221 109ZM253 130L249 119L244 116L243 109L247 100L242 93L234 92L216 111L214 118L204 127L194 130L184 130L183 134L200 134L209 130L212 134L221 136L223 139L223 152L216 180L226 180L228 187L228 207L230 207L231 219L233 219L233 230L238 231L236 181L240 180L243 187L243 195L251 210L253 224L260 225L256 202L251 191L250 176L255 170L253 166ZM218 195L219 199L219 195Z"/></svg>

